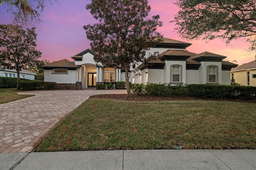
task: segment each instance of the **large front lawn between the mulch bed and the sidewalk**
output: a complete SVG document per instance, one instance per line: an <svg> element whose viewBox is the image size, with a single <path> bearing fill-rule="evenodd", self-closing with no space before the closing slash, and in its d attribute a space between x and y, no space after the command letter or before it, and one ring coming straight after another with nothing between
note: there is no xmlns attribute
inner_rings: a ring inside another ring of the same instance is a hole
<svg viewBox="0 0 256 170"><path fill-rule="evenodd" d="M256 105L214 100L90 98L36 151L256 149Z"/></svg>

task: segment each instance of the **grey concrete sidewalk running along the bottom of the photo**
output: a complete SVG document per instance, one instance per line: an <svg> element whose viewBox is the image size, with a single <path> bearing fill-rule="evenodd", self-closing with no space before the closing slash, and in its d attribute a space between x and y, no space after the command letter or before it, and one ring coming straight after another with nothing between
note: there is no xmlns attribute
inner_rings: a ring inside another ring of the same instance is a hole
<svg viewBox="0 0 256 170"><path fill-rule="evenodd" d="M255 150L1 153L1 170L255 170Z"/></svg>

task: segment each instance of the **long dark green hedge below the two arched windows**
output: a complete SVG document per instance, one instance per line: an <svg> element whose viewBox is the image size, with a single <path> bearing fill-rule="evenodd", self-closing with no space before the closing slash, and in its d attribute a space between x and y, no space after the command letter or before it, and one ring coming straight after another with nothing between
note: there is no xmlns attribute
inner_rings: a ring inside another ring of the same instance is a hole
<svg viewBox="0 0 256 170"><path fill-rule="evenodd" d="M132 93L149 96L190 96L193 98L256 99L255 86L230 86L215 84L133 84Z"/></svg>

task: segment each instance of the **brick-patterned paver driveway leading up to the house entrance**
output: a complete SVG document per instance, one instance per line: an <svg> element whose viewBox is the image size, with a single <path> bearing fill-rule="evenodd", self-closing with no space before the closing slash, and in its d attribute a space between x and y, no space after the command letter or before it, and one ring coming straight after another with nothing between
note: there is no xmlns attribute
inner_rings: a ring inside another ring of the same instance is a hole
<svg viewBox="0 0 256 170"><path fill-rule="evenodd" d="M0 104L0 152L31 152L89 96L126 90L48 90L19 92L36 96Z"/></svg>

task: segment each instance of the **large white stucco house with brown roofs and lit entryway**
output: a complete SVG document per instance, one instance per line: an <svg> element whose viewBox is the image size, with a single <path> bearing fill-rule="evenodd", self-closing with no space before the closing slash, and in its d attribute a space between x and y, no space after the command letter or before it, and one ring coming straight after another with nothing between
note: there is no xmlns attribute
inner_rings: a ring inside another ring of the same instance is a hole
<svg viewBox="0 0 256 170"><path fill-rule="evenodd" d="M222 61L225 56L204 52L190 53L191 43L164 38L162 43L151 48L158 51L160 59L149 64L140 63L130 68L132 83L171 84L230 84L230 70L237 64ZM147 55L149 55L149 53ZM56 83L81 83L82 88L94 87L97 83L125 81L124 70L106 68L94 61L95 53L86 49L67 59L44 65L44 81Z"/></svg>

